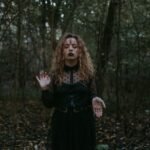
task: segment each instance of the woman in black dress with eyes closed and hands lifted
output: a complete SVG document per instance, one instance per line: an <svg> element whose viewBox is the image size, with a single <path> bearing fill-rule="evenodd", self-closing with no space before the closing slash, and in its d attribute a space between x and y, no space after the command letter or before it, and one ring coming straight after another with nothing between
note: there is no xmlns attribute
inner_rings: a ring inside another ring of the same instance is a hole
<svg viewBox="0 0 150 150"><path fill-rule="evenodd" d="M42 101L54 107L52 150L95 150L95 116L105 103L96 96L94 68L83 40L66 34L53 57L51 75L36 76Z"/></svg>

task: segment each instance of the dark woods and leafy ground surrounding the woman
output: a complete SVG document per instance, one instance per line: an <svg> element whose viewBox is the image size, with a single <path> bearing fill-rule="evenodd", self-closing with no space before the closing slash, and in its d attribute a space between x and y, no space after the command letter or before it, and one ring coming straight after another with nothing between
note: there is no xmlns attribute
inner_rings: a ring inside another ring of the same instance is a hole
<svg viewBox="0 0 150 150"><path fill-rule="evenodd" d="M148 150L150 0L1 0L0 149L43 149L51 110L35 75L65 32L84 39L96 67L107 105L99 149Z"/></svg>

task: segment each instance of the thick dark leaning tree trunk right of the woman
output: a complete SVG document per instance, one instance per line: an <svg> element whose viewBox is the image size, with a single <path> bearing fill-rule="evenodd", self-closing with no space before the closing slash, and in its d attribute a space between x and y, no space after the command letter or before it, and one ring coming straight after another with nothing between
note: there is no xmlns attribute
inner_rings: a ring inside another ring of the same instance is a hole
<svg viewBox="0 0 150 150"><path fill-rule="evenodd" d="M110 1L108 8L108 15L106 24L102 36L100 34L101 28L98 29L99 34L97 36L97 87L98 94L102 95L104 90L104 74L106 70L106 63L111 50L111 40L113 36L114 21L116 16L117 2L114 0ZM100 26L101 27L101 26Z"/></svg>

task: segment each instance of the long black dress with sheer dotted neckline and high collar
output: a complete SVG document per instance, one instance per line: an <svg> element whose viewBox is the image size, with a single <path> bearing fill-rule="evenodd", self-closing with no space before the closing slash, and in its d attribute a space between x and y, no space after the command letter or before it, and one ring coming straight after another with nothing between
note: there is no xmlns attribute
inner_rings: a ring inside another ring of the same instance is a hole
<svg viewBox="0 0 150 150"><path fill-rule="evenodd" d="M49 134L52 150L95 150L95 84L93 79L80 80L78 68L65 66L63 83L56 85L52 78L50 89L42 92L44 105L55 107Z"/></svg>

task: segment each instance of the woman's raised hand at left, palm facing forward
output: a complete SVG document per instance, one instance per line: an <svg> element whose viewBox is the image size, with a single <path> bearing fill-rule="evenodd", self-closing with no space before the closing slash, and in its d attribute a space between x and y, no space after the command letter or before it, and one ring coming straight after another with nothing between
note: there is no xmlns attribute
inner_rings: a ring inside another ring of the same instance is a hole
<svg viewBox="0 0 150 150"><path fill-rule="evenodd" d="M39 76L36 76L36 79L43 90L47 89L51 82L49 75L44 71L40 71Z"/></svg>

